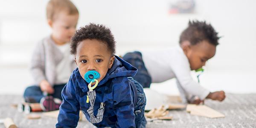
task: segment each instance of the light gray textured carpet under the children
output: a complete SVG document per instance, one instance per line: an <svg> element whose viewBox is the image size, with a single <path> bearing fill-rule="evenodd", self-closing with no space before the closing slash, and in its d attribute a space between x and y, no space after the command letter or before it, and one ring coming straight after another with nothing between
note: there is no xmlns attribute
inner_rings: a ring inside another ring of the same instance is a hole
<svg viewBox="0 0 256 128"><path fill-rule="evenodd" d="M0 101L0 118L11 117L19 128L55 127L55 118L42 116L41 119L26 119L25 113L11 107L22 101L21 96L0 95ZM191 116L185 110L175 110L169 112L173 120L148 122L147 128L256 128L256 94L227 94L224 102L207 100L205 105L224 113L226 117L209 119ZM0 128L4 128L4 125L0 124ZM93 125L81 121L78 128L93 128Z"/></svg>

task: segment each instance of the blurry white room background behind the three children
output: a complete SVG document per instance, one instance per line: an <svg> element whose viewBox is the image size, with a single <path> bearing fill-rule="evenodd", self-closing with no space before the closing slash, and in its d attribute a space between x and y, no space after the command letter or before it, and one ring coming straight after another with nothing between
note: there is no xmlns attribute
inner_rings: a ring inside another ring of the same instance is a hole
<svg viewBox="0 0 256 128"><path fill-rule="evenodd" d="M178 44L189 20L206 20L222 36L201 84L228 93L256 93L255 0L71 0L79 23L111 28L117 55ZM48 0L0 0L0 94L22 95L32 85L29 62L35 44L51 33ZM192 72L195 76L195 73ZM196 78L196 77L195 77ZM177 95L175 80L152 90Z"/></svg>

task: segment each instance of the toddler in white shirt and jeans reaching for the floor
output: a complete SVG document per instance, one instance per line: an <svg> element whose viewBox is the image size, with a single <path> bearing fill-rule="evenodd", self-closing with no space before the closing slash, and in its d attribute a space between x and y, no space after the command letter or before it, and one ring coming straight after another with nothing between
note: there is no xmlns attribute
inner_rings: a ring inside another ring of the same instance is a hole
<svg viewBox="0 0 256 128"><path fill-rule="evenodd" d="M159 51L129 52L123 59L138 69L134 79L143 87L172 78L184 103L200 104L204 99L223 101L224 91L210 92L192 79L191 70L198 70L216 52L218 32L205 21L189 21L181 33L179 46Z"/></svg>

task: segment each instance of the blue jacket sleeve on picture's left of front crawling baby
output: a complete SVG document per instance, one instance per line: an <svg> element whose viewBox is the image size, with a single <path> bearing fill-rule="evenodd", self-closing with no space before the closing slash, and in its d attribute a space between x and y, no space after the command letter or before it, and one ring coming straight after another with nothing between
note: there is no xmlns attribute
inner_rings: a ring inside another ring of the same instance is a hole
<svg viewBox="0 0 256 128"><path fill-rule="evenodd" d="M71 78L70 78L71 79ZM76 99L76 90L73 81L68 81L61 92L62 103L58 114L56 128L76 128L79 121L79 101Z"/></svg>

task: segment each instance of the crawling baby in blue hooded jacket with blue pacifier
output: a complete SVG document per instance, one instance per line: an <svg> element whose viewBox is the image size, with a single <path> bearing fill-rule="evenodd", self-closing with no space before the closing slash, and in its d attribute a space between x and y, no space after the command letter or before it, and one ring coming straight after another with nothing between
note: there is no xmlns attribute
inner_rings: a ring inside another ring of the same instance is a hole
<svg viewBox="0 0 256 128"><path fill-rule="evenodd" d="M115 54L110 29L90 23L76 31L71 53L78 66L62 90L56 127L76 127L79 111L96 127L145 128L143 87L137 69Z"/></svg>

